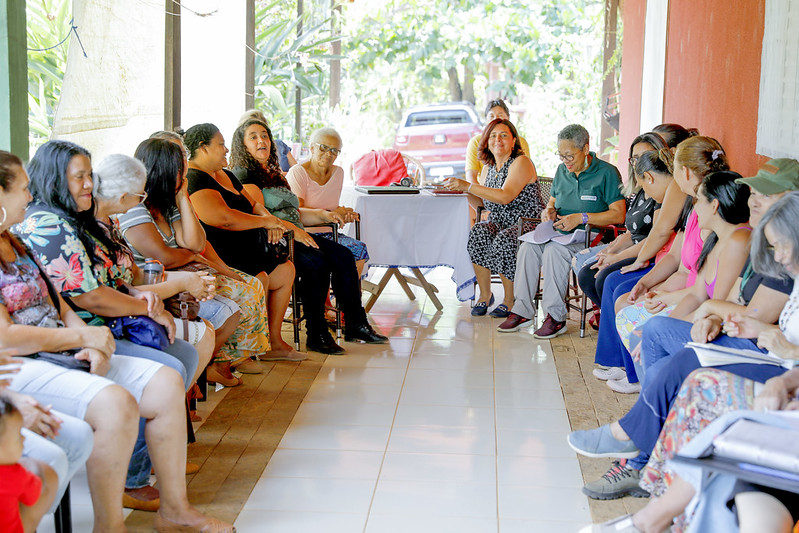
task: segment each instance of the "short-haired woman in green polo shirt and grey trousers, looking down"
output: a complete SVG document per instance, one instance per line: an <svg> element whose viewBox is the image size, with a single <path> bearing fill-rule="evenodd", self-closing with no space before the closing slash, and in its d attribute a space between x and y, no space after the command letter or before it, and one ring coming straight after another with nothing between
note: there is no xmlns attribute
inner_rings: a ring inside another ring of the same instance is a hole
<svg viewBox="0 0 799 533"><path fill-rule="evenodd" d="M588 146L588 131L571 124L558 133L558 166L552 182L552 196L541 219L552 221L561 232L573 232L585 224L604 226L624 222L624 197L619 190L621 177L616 167L599 159ZM533 333L550 339L566 332L568 311L564 302L569 284L569 269L574 254L584 243L545 244L522 242L516 261L516 293L513 312L498 331L517 331L535 317L535 295L543 272L543 305L546 318Z"/></svg>

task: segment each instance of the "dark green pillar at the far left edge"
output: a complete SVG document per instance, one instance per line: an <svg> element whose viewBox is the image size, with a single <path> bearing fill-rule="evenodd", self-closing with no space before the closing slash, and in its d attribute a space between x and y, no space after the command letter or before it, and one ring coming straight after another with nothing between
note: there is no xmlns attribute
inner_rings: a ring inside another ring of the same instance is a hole
<svg viewBox="0 0 799 533"><path fill-rule="evenodd" d="M28 160L25 2L0 0L0 150Z"/></svg>

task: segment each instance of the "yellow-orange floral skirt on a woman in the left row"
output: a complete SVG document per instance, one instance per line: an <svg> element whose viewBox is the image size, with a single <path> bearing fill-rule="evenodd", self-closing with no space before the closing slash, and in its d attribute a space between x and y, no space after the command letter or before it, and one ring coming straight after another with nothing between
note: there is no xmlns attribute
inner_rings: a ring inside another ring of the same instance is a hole
<svg viewBox="0 0 799 533"><path fill-rule="evenodd" d="M241 276L244 282L219 275L216 293L236 302L241 308L241 318L233 334L214 354L215 363L250 357L269 350L264 286L255 276L236 269L233 271Z"/></svg>

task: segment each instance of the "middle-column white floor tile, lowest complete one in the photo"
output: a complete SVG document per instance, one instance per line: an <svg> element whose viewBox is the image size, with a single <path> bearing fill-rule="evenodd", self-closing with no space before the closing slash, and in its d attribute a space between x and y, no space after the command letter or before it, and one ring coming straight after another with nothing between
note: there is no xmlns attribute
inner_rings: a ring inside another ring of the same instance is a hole
<svg viewBox="0 0 799 533"><path fill-rule="evenodd" d="M380 480L370 514L493 518L496 498L494 483Z"/></svg>

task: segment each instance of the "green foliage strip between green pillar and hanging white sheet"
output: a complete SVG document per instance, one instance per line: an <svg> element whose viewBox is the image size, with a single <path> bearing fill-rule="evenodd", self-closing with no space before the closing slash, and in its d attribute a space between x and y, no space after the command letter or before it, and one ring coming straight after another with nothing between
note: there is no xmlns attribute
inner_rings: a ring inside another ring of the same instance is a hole
<svg viewBox="0 0 799 533"><path fill-rule="evenodd" d="M59 43L70 30L72 2L28 0L28 48L44 49ZM69 39L43 52L28 51L28 122L31 150L50 138L67 66Z"/></svg>

